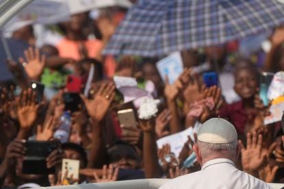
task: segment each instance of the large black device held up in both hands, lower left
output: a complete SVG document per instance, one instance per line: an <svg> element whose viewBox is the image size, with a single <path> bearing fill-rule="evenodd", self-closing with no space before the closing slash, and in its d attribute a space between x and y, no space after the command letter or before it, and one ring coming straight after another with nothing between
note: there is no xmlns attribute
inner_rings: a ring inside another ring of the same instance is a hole
<svg viewBox="0 0 284 189"><path fill-rule="evenodd" d="M24 174L54 173L55 168L47 168L46 158L59 147L57 141L27 141L25 142L25 155L22 166Z"/></svg>

